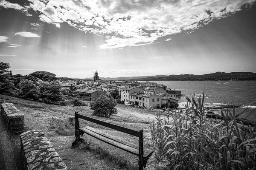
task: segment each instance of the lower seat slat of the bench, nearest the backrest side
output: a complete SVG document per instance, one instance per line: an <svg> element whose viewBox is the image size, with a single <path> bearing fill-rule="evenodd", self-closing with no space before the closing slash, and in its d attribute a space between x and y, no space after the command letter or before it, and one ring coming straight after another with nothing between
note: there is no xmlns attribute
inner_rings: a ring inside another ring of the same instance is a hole
<svg viewBox="0 0 256 170"><path fill-rule="evenodd" d="M112 146L115 146L115 147L117 147L119 149L125 150L126 152L129 152L129 153L132 153L132 154L134 154L136 156L139 156L139 150L135 149L134 147L130 147L128 145L116 142L116 141L114 141L114 140L112 140L110 138L102 136L102 135L100 135L98 133L95 133L95 132L93 132L93 131L91 131L91 130L89 130L87 128L84 128L84 127L80 128L80 130L82 130L84 133L86 133L86 134L88 134L90 136L93 136L96 139L101 140L102 142L108 143L108 144L110 144Z"/></svg>

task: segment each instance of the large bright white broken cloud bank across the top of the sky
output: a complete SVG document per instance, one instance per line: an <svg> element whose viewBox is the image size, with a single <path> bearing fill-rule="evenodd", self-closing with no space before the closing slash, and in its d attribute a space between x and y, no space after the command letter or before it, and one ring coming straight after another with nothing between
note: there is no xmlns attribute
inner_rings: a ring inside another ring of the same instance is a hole
<svg viewBox="0 0 256 170"><path fill-rule="evenodd" d="M160 37L191 33L213 20L234 14L256 0L29 0L26 6L0 2L28 14L39 11L39 20L60 28L68 23L84 32L105 37L102 49L154 44ZM17 34L17 33L16 33ZM166 41L171 38L166 39Z"/></svg>

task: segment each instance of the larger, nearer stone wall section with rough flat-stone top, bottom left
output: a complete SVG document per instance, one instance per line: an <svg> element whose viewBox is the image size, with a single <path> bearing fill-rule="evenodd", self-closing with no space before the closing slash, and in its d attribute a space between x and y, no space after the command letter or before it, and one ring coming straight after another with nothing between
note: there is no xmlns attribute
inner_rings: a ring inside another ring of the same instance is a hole
<svg viewBox="0 0 256 170"><path fill-rule="evenodd" d="M20 134L20 145L26 170L67 170L42 131L29 130Z"/></svg>

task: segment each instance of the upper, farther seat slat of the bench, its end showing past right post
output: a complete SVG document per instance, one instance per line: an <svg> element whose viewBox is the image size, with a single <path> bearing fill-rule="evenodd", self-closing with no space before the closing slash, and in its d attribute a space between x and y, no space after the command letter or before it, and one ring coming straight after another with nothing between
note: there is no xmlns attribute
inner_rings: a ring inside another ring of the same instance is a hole
<svg viewBox="0 0 256 170"><path fill-rule="evenodd" d="M136 149L136 150L138 150L138 148L139 148L139 145L133 144L133 143L131 143L131 142L129 142L129 141L126 141L126 140L123 140L123 139L119 139L119 138L116 139L115 136L112 136L112 135L110 135L110 134L107 135L107 134L103 133L103 132L100 131L100 130L94 129L93 127L86 126L86 127L84 127L84 128L86 128L86 129L88 129L88 130L91 130L91 131L93 131L93 132L95 132L95 133L98 133L99 135L104 136L104 137L106 137L106 138L109 138L109 139L111 139L111 140L114 140L114 141L116 141L116 142L125 144L125 145L127 145L127 146L129 146L129 147L133 147L133 148ZM151 155L151 154L153 153L152 150L149 150L148 148L145 148L145 147L144 147L143 150L144 150L144 156L145 156L145 157L147 157L148 155ZM139 150L138 150L137 152L139 153Z"/></svg>

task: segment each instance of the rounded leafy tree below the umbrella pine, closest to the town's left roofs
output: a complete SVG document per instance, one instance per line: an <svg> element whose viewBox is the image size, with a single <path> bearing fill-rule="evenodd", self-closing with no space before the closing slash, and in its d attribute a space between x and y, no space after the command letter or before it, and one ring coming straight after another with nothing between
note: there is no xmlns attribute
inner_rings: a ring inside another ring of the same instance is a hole
<svg viewBox="0 0 256 170"><path fill-rule="evenodd" d="M39 88L40 98L44 103L53 104L62 99L61 86L58 82L41 82Z"/></svg>

